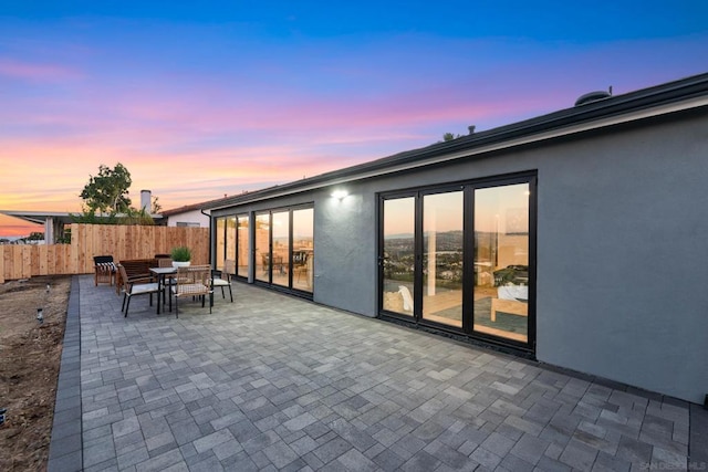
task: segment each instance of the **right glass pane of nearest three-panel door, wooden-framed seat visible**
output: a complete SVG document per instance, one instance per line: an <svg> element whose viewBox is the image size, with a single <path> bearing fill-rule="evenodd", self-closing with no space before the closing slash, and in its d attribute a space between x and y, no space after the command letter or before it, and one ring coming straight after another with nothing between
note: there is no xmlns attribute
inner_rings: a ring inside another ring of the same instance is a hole
<svg viewBox="0 0 708 472"><path fill-rule="evenodd" d="M529 183L475 190L478 333L529 340Z"/></svg>

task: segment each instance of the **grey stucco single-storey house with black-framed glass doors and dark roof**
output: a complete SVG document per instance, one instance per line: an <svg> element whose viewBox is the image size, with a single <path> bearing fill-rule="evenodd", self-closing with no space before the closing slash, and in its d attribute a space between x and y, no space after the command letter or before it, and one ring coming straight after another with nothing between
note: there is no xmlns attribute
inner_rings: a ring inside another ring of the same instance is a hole
<svg viewBox="0 0 708 472"><path fill-rule="evenodd" d="M212 263L704 402L708 74L600 98L204 204Z"/></svg>

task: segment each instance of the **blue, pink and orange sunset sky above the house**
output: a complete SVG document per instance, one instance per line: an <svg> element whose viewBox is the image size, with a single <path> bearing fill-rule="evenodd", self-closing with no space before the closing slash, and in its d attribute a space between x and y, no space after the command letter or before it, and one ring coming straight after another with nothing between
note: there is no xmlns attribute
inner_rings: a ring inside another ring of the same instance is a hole
<svg viewBox="0 0 708 472"><path fill-rule="evenodd" d="M135 204L173 209L708 72L707 18L705 0L4 1L0 210L80 212L116 162Z"/></svg>

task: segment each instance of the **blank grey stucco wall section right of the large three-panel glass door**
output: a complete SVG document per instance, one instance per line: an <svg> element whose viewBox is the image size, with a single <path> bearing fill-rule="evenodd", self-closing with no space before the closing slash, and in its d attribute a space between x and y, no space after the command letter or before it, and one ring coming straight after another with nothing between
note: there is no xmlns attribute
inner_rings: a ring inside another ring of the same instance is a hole
<svg viewBox="0 0 708 472"><path fill-rule="evenodd" d="M704 113L566 143L543 159L539 360L704 401L706 129Z"/></svg>

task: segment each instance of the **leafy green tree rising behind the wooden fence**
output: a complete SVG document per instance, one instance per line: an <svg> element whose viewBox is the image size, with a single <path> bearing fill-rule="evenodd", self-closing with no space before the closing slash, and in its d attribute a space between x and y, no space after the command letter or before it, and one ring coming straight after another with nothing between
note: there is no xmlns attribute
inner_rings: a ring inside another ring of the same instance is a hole
<svg viewBox="0 0 708 472"><path fill-rule="evenodd" d="M97 176L90 176L88 183L80 197L84 200L90 212L96 210L110 213L126 212L131 208L128 188L131 188L131 172L121 162L115 168L101 165Z"/></svg>

